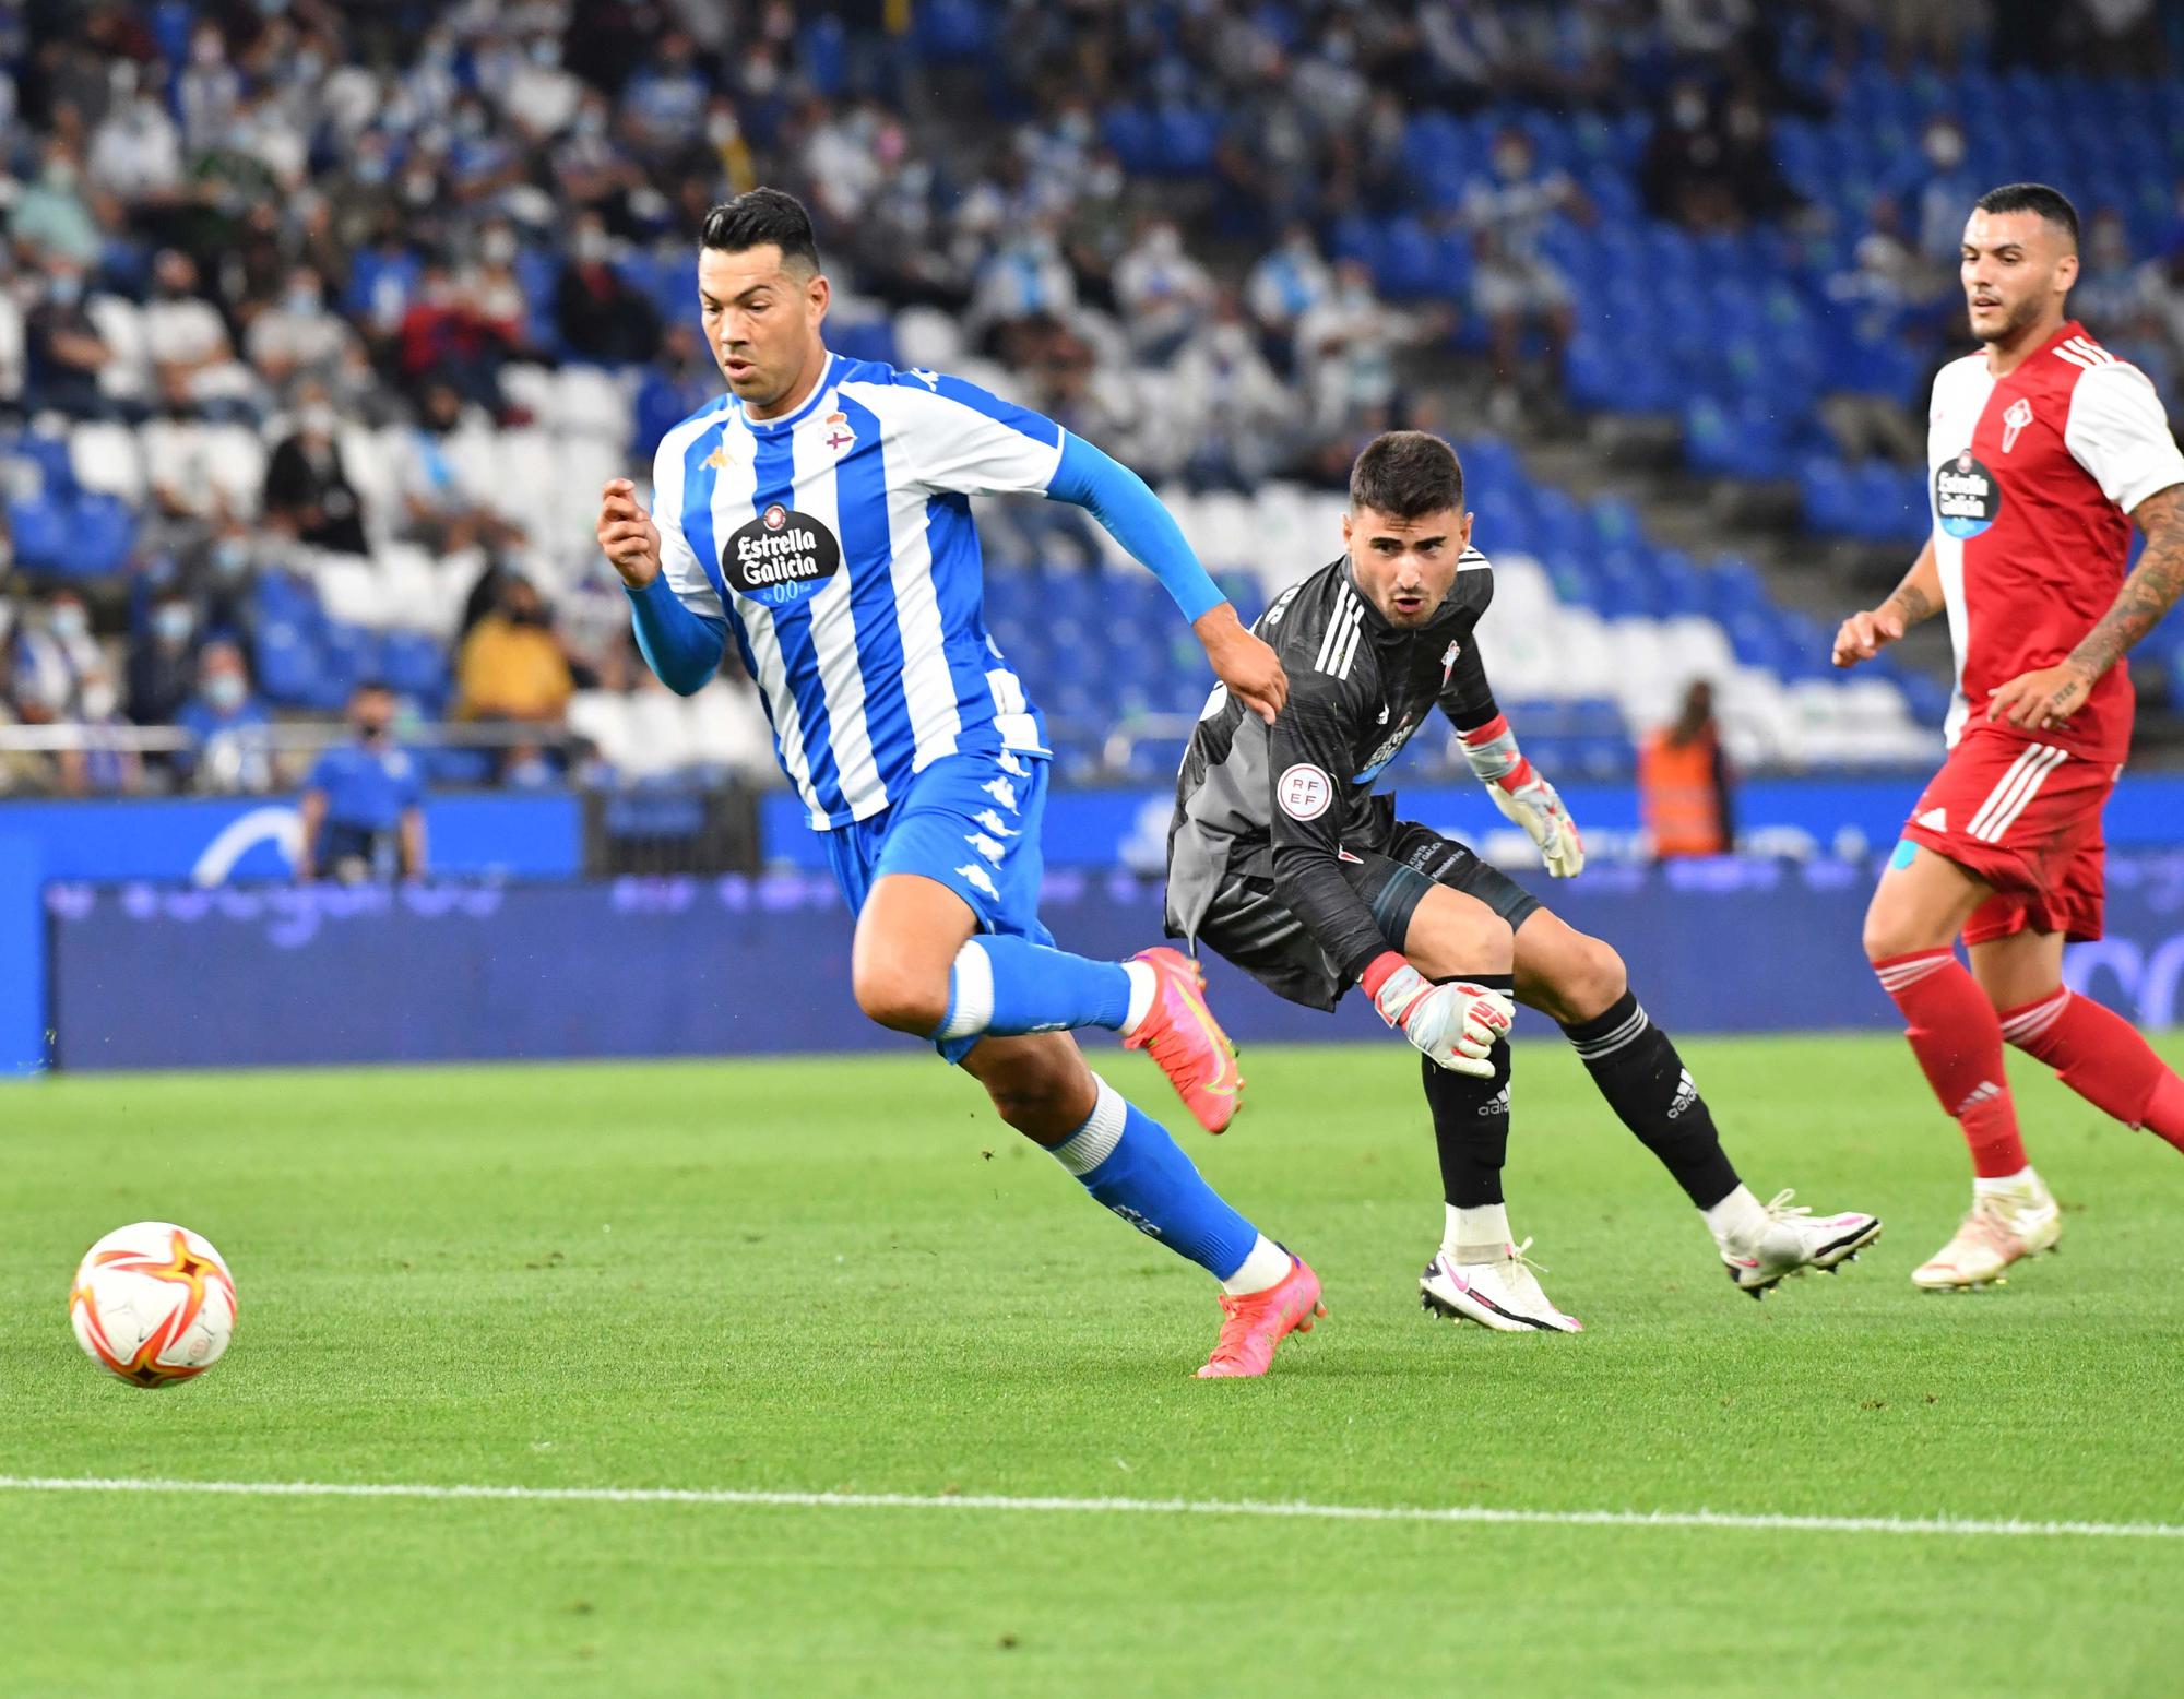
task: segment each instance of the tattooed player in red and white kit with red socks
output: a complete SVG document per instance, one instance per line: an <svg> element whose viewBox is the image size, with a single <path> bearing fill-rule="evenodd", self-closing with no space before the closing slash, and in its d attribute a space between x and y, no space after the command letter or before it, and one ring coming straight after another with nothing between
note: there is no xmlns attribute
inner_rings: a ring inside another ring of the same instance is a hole
<svg viewBox="0 0 2184 1699"><path fill-rule="evenodd" d="M2062 194L1983 194L1959 273L1985 347L1933 380L1933 535L1835 635L1835 664L1856 666L1946 607L1957 649L1948 760L1865 913L1865 954L1972 1146L1972 1210L1911 1275L1928 1291L1998 1280L2062 1232L2018 1138L2005 1039L2184 1149L2184 1081L2062 983L2064 941L2101 937L2101 806L2132 747L2121 660L2184 590L2184 456L2153 384L2064 317L2077 210ZM2134 520L2147 553L2125 579Z"/></svg>

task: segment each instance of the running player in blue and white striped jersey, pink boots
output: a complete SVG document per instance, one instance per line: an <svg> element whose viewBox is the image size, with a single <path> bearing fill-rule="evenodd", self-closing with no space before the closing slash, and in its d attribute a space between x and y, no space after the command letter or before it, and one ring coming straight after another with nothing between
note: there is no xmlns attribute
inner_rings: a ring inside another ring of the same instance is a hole
<svg viewBox="0 0 2184 1699"><path fill-rule="evenodd" d="M856 913L858 1007L933 1039L1092 1197L1221 1282L1201 1376L1265 1374L1326 1315L1319 1280L1068 1037L1109 1026L1149 1050L1208 1131L1236 1112L1243 1079L1197 963L1171 948L1088 961L1040 924L1046 725L985 631L968 498L1090 509L1254 712L1282 708L1282 666L1136 474L957 378L830 354L828 299L793 197L760 188L705 216L699 317L729 393L660 443L649 515L625 478L601 496L638 646L688 694L734 638Z"/></svg>

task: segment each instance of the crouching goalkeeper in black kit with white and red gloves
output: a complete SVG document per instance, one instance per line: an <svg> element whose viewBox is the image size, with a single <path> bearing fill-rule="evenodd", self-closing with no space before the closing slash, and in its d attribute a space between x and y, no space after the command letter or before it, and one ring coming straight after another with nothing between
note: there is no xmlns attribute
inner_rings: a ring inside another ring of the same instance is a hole
<svg viewBox="0 0 2184 1699"><path fill-rule="evenodd" d="M1358 985L1424 1053L1446 1203L1441 1249L1420 1278L1428 1310L1507 1332L1579 1332L1524 1262L1531 1240L1509 1234L1511 998L1562 1024L1601 1096L1704 1214L1736 1286L1758 1297L1800 1269L1835 1269L1880 1223L1819 1221L1789 1192L1760 1203L1623 959L1461 843L1398 821L1393 797L1372 788L1439 708L1546 871L1570 878L1586 865L1562 797L1494 705L1474 633L1494 570L1470 537L1463 467L1439 437L1393 430L1358 454L1343 557L1256 627L1289 670L1289 705L1267 725L1216 690L1184 756L1168 930L1313 1009Z"/></svg>

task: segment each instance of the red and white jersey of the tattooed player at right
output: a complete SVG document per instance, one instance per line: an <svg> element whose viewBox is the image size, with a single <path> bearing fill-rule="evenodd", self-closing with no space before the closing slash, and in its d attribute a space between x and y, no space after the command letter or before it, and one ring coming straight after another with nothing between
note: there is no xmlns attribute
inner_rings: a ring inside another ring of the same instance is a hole
<svg viewBox="0 0 2184 1699"><path fill-rule="evenodd" d="M1955 745L1990 690L2055 666L2110 609L2132 548L2127 515L2184 483L2184 454L2147 376L2070 321L2007 378L1987 371L1985 352L1942 367L1926 463L1957 649ZM2038 736L2121 762L2132 745L2125 668L2112 666L2066 727Z"/></svg>

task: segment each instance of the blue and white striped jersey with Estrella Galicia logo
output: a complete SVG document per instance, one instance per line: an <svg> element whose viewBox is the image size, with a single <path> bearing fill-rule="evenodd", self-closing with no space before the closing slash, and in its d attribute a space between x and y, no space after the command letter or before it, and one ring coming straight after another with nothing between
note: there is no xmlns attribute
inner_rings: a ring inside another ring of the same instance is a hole
<svg viewBox="0 0 2184 1699"><path fill-rule="evenodd" d="M815 830L871 819L941 756L1048 753L985 629L970 496L1044 494L1059 461L1053 419L839 354L793 415L723 395L662 439L668 587L725 616Z"/></svg>

